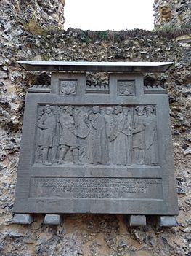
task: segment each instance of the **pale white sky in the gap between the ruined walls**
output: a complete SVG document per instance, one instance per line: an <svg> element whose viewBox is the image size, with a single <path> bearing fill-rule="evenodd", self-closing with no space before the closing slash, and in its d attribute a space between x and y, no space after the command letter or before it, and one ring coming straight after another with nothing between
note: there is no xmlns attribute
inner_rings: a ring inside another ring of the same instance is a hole
<svg viewBox="0 0 191 256"><path fill-rule="evenodd" d="M154 0L66 0L65 29L153 29Z"/></svg>

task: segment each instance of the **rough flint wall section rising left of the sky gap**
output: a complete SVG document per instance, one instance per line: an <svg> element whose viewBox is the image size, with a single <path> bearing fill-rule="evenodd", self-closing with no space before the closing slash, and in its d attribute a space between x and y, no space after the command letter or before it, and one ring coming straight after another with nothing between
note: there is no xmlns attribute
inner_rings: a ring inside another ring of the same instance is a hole
<svg viewBox="0 0 191 256"><path fill-rule="evenodd" d="M9 31L23 26L31 34L45 36L48 30L64 28L64 7L65 0L1 1L1 23Z"/></svg>

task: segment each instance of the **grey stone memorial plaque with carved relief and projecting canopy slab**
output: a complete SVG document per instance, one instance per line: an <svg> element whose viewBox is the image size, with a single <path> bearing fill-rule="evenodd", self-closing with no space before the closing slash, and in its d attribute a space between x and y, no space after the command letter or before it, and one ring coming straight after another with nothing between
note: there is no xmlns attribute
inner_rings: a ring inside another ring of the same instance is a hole
<svg viewBox="0 0 191 256"><path fill-rule="evenodd" d="M20 62L52 78L26 96L14 212L178 214L168 94L142 75L171 64Z"/></svg>

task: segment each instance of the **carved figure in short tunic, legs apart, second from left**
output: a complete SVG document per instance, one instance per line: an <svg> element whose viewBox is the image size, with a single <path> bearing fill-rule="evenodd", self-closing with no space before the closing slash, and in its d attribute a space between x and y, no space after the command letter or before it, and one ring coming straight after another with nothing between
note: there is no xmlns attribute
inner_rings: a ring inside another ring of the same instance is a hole
<svg viewBox="0 0 191 256"><path fill-rule="evenodd" d="M60 155L59 162L64 163L63 160L65 158L68 150L71 150L73 155L73 163L81 164L79 161L79 143L78 143L78 133L75 121L73 119L73 106L65 106L65 113L60 117L60 125L62 128L61 136L60 136Z"/></svg>

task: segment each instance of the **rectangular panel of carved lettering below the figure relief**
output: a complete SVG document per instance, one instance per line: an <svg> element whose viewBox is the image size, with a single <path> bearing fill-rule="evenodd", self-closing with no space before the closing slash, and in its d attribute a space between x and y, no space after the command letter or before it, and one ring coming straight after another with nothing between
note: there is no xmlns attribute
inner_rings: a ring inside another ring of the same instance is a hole
<svg viewBox="0 0 191 256"><path fill-rule="evenodd" d="M163 199L162 179L33 177L31 197Z"/></svg>

